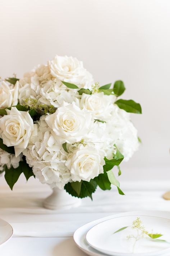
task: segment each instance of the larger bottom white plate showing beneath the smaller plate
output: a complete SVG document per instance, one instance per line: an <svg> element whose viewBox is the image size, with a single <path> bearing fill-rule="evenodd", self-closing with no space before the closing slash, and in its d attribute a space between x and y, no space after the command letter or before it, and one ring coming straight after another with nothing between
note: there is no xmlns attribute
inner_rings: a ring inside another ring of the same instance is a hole
<svg viewBox="0 0 170 256"><path fill-rule="evenodd" d="M107 216L98 220L94 220L90 223L87 223L86 225L81 226L74 232L74 242L77 244L77 246L87 255L90 256L106 256L106 254L99 252L89 246L89 244L86 242L86 233L89 229L91 229L93 226L97 225L98 223L101 223L102 221L112 219L114 217L121 217L121 216L127 216L127 215L146 215L146 216L157 216L157 217L164 217L167 219L170 219L170 212L168 211L133 211L133 212L124 212L121 214L115 214L111 216ZM108 256L108 255L107 255ZM161 255L159 255L161 256ZM164 256L170 256L169 253L165 254Z"/></svg>

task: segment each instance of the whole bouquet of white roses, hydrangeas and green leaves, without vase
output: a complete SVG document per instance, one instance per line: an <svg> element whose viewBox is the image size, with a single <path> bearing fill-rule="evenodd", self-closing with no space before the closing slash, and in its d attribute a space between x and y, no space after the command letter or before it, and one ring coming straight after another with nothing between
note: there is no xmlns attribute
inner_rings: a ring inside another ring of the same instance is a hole
<svg viewBox="0 0 170 256"><path fill-rule="evenodd" d="M83 63L56 56L23 78L0 85L0 173L13 189L23 172L74 197L91 197L96 187L120 189L112 171L138 149L129 112L133 100L118 99L124 83L100 86Z"/></svg>

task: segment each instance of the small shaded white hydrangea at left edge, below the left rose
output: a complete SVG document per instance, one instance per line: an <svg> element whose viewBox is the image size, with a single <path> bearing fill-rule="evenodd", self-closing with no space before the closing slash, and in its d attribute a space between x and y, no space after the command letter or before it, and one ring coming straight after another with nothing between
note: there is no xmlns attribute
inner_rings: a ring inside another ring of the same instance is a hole
<svg viewBox="0 0 170 256"><path fill-rule="evenodd" d="M17 168L19 166L19 161L22 160L22 154L18 157L15 157L15 154L10 154L0 148L0 171L3 171L5 165L8 169L11 167Z"/></svg>

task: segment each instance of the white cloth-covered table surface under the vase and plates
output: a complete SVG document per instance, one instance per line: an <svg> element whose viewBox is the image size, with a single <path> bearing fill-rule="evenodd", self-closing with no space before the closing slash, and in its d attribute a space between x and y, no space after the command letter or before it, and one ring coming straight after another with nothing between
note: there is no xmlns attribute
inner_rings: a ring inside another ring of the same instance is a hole
<svg viewBox="0 0 170 256"><path fill-rule="evenodd" d="M122 182L126 196L113 188L98 189L82 205L67 211L42 208L51 190L46 185L24 184L11 192L1 187L0 218L14 228L14 236L0 247L2 256L85 256L73 241L74 231L89 221L125 211L170 211L170 201L162 194L170 190L169 181Z"/></svg>

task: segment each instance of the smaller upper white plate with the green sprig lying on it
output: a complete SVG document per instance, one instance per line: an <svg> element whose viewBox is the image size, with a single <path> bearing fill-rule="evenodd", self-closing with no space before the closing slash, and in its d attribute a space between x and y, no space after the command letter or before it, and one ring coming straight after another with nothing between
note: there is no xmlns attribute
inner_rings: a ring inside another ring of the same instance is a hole
<svg viewBox="0 0 170 256"><path fill-rule="evenodd" d="M135 239L127 239L128 235L137 235L132 223L140 218L142 225L149 233L163 234L160 239L170 242L170 219L154 216L130 215L114 217L93 226L86 234L86 241L96 250L111 256L159 256L169 252L170 243L155 242L142 238L135 244ZM127 227L121 232L117 230ZM134 248L133 248L134 246Z"/></svg>

